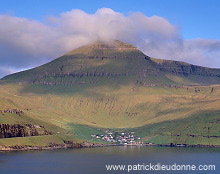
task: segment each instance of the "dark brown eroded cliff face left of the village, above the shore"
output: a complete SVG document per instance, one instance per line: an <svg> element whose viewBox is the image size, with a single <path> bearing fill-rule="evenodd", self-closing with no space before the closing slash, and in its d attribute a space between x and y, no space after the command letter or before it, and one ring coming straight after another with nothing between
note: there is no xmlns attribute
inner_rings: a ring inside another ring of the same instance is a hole
<svg viewBox="0 0 220 174"><path fill-rule="evenodd" d="M43 126L34 124L0 124L0 138L49 135Z"/></svg>

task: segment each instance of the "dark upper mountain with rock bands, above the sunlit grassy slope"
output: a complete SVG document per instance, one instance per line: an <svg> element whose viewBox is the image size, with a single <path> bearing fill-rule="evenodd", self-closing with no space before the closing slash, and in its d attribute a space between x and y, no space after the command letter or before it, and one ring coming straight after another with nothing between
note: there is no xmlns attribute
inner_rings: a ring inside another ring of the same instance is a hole
<svg viewBox="0 0 220 174"><path fill-rule="evenodd" d="M153 59L120 41L82 46L40 67L3 80L50 85L208 85L220 83L220 70Z"/></svg>

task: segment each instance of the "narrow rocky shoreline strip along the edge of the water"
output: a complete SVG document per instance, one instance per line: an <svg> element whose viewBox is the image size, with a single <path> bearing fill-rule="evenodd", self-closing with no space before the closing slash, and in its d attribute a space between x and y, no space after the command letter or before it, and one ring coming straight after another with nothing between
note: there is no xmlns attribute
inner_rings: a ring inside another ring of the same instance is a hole
<svg viewBox="0 0 220 174"><path fill-rule="evenodd" d="M22 145L22 146L0 146L1 152L15 152L15 151L34 151L34 150L56 150L56 149L78 149L78 148L94 148L94 147L109 147L109 146L157 146L157 147L203 147L203 148L220 148L220 145L189 145L189 144L94 144L90 142L83 143L74 143L72 141L65 142L65 144L51 144L49 146L30 146L30 145Z"/></svg>

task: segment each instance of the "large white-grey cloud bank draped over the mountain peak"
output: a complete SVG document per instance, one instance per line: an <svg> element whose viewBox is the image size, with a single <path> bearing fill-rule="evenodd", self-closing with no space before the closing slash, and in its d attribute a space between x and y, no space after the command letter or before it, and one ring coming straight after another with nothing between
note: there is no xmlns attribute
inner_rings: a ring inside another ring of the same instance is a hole
<svg viewBox="0 0 220 174"><path fill-rule="evenodd" d="M96 40L121 40L145 54L220 67L220 41L181 38L178 27L159 16L137 12L125 16L109 8L49 17L45 22L0 15L0 76L46 63Z"/></svg>

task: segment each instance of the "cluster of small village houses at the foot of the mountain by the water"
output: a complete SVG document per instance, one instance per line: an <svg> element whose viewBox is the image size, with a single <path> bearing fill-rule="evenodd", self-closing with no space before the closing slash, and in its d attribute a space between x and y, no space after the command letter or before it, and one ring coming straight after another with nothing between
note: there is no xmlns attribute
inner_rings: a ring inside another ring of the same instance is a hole
<svg viewBox="0 0 220 174"><path fill-rule="evenodd" d="M112 142L112 143L118 143L118 144L124 144L124 145L141 145L143 144L140 141L140 137L137 137L135 135L135 132L108 132L106 131L105 135L91 135L92 138L102 139L104 141Z"/></svg>

